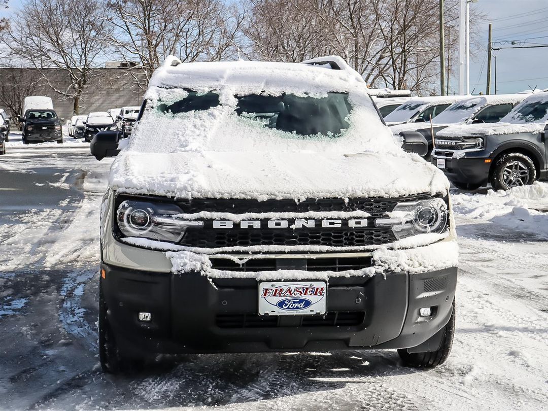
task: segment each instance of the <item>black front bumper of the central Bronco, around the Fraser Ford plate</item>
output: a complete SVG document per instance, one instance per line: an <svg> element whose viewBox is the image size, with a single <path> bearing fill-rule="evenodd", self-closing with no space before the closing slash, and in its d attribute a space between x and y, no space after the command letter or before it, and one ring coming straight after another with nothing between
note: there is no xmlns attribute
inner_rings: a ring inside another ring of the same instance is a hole
<svg viewBox="0 0 548 411"><path fill-rule="evenodd" d="M334 277L326 316L259 317L253 278L208 278L103 264L101 278L117 345L125 355L327 351L414 347L452 313L457 269ZM314 279L314 272L310 272ZM421 307L435 315L419 317ZM150 312L140 322L139 312Z"/></svg>

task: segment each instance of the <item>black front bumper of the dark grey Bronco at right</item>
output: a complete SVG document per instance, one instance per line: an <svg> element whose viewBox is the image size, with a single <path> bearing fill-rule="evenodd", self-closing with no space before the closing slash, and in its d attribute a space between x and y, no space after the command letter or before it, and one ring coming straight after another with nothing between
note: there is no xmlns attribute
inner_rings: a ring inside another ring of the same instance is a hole
<svg viewBox="0 0 548 411"><path fill-rule="evenodd" d="M437 152L432 157L432 162L437 165L438 159L445 160L445 168L440 168L449 181L460 184L486 185L489 181L489 169L491 162L486 163L486 157L449 157L441 156Z"/></svg>

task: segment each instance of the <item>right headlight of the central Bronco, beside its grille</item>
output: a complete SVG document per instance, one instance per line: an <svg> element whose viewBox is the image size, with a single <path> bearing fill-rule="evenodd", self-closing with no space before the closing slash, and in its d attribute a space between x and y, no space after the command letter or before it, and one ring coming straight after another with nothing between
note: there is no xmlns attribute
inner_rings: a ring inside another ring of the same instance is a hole
<svg viewBox="0 0 548 411"><path fill-rule="evenodd" d="M441 198L402 202L389 213L378 218L378 227L390 226L397 239L423 233L442 233L448 229L449 210Z"/></svg>

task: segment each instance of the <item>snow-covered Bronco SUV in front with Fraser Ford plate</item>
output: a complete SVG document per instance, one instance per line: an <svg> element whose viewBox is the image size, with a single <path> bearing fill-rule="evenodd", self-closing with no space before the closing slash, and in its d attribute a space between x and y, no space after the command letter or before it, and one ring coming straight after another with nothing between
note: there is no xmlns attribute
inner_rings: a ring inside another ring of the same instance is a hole
<svg viewBox="0 0 548 411"><path fill-rule="evenodd" d="M458 265L449 182L396 146L343 59L170 57L120 138L91 146L102 158L125 145L101 208L106 371L158 353L445 361Z"/></svg>

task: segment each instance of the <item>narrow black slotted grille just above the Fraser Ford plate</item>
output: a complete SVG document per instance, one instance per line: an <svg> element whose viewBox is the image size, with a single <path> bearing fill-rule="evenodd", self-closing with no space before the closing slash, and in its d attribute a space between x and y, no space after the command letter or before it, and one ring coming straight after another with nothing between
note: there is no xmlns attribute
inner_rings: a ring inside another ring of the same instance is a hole
<svg viewBox="0 0 548 411"><path fill-rule="evenodd" d="M243 256L244 258L245 256ZM280 261L287 261L287 259L276 258L261 258L251 259L242 264L238 264L235 261L228 259L211 260L212 268L223 271L276 271L279 269L278 263ZM361 270L372 265L370 257L354 257L354 258L307 258L299 259L300 262L304 262L304 266L296 266L296 269L306 271L347 271L347 270ZM287 268L287 266L284 266Z"/></svg>

